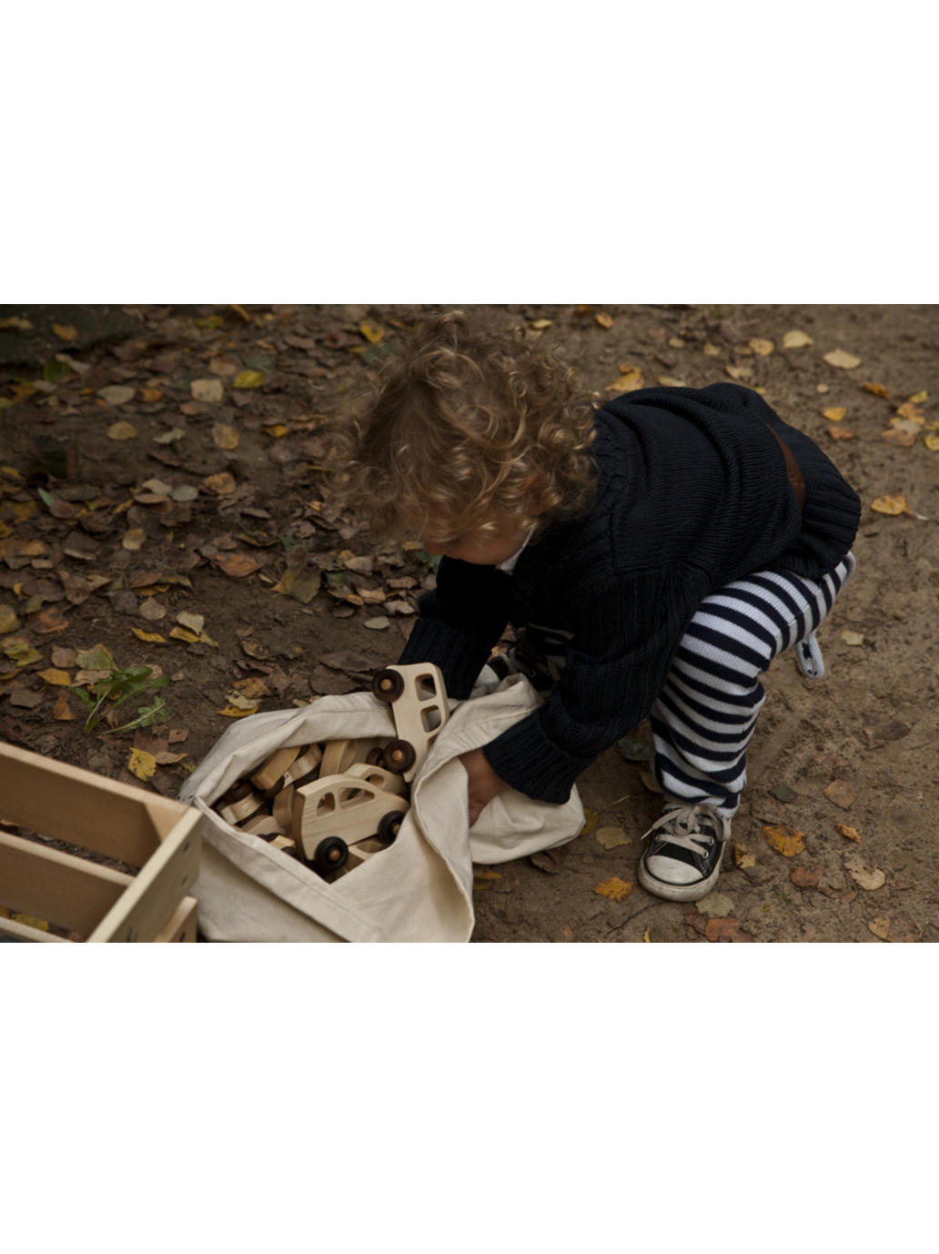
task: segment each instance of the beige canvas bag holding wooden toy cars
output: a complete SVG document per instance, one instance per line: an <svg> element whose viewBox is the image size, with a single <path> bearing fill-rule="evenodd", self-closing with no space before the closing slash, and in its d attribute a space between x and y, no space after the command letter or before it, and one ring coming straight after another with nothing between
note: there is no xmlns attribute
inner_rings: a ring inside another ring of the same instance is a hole
<svg viewBox="0 0 939 1254"><path fill-rule="evenodd" d="M189 776L181 800L206 816L193 895L209 940L469 940L473 863L503 863L572 840L584 815L577 789L564 805L511 789L469 828L466 772L456 761L539 703L522 675L485 696L450 702L450 717L411 784L397 839L333 883L231 826L213 803L276 749L341 737L395 736L389 707L370 692L321 697L301 710L249 715L226 731Z"/></svg>

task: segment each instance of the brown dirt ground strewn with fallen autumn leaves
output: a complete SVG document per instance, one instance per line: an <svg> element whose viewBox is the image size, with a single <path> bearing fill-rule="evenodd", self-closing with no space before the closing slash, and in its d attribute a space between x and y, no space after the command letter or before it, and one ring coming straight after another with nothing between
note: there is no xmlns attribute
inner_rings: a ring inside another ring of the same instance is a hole
<svg viewBox="0 0 939 1254"><path fill-rule="evenodd" d="M0 739L174 795L231 717L367 687L397 658L433 563L376 552L330 505L322 460L344 391L422 308L0 306ZM766 676L716 893L681 905L636 883L659 813L643 725L580 777L570 845L480 868L473 939L939 939L939 306L484 308L535 324L598 391L633 371L761 389L864 513L856 577L819 632L826 677L791 655ZM811 344L785 347L791 331ZM885 497L905 512L875 510ZM84 731L65 685L97 645L169 677L165 722ZM145 782L133 747L159 762ZM613 877L633 885L622 900L595 892Z"/></svg>

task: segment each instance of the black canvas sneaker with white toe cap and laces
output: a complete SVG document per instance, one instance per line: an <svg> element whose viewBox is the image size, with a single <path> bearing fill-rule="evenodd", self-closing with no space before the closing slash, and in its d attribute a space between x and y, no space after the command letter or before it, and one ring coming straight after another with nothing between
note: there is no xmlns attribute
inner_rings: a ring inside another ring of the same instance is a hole
<svg viewBox="0 0 939 1254"><path fill-rule="evenodd" d="M669 902L707 897L721 874L731 820L712 805L668 800L662 818L649 828L649 846L639 859L639 883Z"/></svg>

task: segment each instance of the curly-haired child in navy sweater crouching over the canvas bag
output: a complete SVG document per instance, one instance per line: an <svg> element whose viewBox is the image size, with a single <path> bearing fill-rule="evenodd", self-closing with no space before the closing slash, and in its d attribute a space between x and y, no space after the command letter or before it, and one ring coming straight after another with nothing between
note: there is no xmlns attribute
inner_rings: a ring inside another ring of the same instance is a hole
<svg viewBox="0 0 939 1254"><path fill-rule="evenodd" d="M639 883L710 893L746 782L758 676L815 628L854 571L860 502L755 391L649 387L607 400L461 314L426 324L345 424L346 502L440 554L400 657L469 697L506 623L545 703L464 754L470 825L506 786L563 803L651 716L662 818ZM644 839L644 838L643 838Z"/></svg>

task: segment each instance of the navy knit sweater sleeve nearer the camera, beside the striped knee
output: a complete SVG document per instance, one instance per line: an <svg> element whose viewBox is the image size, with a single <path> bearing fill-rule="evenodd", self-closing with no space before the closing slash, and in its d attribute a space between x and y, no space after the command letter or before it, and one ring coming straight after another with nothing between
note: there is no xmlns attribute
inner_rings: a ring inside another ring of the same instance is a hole
<svg viewBox="0 0 939 1254"><path fill-rule="evenodd" d="M659 568L582 596L549 703L485 746L496 775L535 800L567 801L577 776L648 715L701 599L698 582L693 571Z"/></svg>

